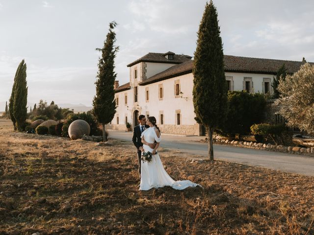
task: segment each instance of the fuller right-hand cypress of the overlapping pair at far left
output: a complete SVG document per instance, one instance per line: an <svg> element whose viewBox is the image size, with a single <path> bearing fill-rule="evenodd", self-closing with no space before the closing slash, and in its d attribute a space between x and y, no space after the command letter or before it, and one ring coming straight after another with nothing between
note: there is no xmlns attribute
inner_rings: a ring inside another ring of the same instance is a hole
<svg viewBox="0 0 314 235"><path fill-rule="evenodd" d="M27 82L26 82L26 64L21 62L21 69L16 74L16 83L14 91L13 115L16 120L16 128L23 131L24 123L27 118Z"/></svg>

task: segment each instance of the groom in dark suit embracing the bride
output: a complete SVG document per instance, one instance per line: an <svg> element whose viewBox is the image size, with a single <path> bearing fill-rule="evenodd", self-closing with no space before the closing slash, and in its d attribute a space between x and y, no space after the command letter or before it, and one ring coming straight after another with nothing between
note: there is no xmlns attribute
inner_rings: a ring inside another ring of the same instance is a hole
<svg viewBox="0 0 314 235"><path fill-rule="evenodd" d="M141 134L146 128L149 128L149 126L146 125L146 118L144 115L138 116L138 123L139 124L137 126L135 126L133 129L132 142L137 149L138 172L139 172L139 177L141 178L141 155L142 155L142 151L144 151L143 143L142 143L142 139L141 139ZM155 148L155 146L154 146L154 148Z"/></svg>

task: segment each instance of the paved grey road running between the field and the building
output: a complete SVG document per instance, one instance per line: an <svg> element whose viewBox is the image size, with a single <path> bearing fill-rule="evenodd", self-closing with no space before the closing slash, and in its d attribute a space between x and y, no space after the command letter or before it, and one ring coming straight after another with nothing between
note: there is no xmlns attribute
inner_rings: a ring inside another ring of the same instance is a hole
<svg viewBox="0 0 314 235"><path fill-rule="evenodd" d="M132 133L109 130L109 137L131 142ZM163 134L160 147L180 149L180 151L184 153L198 154L207 157L208 145L198 142L200 139L202 139L202 137L183 137ZM314 176L313 157L218 144L214 145L214 157L215 159L240 164L262 166L275 170Z"/></svg>

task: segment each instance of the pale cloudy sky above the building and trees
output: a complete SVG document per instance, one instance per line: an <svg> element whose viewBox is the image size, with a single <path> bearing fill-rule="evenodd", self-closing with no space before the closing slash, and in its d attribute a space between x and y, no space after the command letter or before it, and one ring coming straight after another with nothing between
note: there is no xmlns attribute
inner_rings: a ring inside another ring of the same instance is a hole
<svg viewBox="0 0 314 235"><path fill-rule="evenodd" d="M213 0L224 54L314 62L313 0ZM116 28L115 71L148 52L194 55L206 0L0 0L0 103L27 65L28 103L92 105L108 25ZM3 105L2 105L3 106ZM0 111L4 107L0 107Z"/></svg>

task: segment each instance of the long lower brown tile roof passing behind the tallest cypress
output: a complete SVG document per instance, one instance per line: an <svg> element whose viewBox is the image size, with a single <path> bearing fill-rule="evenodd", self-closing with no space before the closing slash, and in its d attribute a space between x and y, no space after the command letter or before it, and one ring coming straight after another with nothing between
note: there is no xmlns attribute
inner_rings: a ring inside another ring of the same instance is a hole
<svg viewBox="0 0 314 235"><path fill-rule="evenodd" d="M286 65L288 73L293 73L298 71L301 65L303 65L305 62L224 55L224 63L226 72L262 73L275 75L283 64ZM145 81L140 82L139 85L143 86L190 73L192 72L192 68L193 60L190 60L185 63L170 67L165 71L159 72Z"/></svg>

